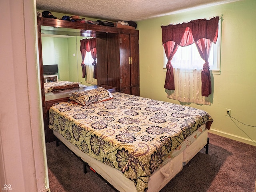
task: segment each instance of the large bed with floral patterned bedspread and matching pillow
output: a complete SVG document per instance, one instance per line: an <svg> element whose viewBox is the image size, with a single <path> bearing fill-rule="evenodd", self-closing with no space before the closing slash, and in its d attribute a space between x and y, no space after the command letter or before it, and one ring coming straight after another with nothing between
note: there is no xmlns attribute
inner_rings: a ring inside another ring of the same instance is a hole
<svg viewBox="0 0 256 192"><path fill-rule="evenodd" d="M212 122L203 110L104 88L49 110L54 135L120 192L163 188L207 144Z"/></svg>

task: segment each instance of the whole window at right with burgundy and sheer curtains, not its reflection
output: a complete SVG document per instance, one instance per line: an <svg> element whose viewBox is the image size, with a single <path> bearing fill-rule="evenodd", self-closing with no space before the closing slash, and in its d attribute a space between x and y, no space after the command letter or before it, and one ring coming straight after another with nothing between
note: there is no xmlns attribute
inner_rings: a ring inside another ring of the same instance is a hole
<svg viewBox="0 0 256 192"><path fill-rule="evenodd" d="M178 25L161 26L164 52L169 59L169 63L167 58L164 59L167 66L164 88L168 98L210 105L210 69L220 72L219 19L217 16L210 20L198 19ZM212 42L216 43L216 48ZM207 60L206 63L199 52Z"/></svg>

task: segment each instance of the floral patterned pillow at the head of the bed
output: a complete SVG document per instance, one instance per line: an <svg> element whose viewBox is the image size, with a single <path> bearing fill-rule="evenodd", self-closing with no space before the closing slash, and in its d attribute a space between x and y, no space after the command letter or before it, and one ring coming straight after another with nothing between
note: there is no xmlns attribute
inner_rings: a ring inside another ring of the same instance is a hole
<svg viewBox="0 0 256 192"><path fill-rule="evenodd" d="M92 90L74 92L69 99L81 105L90 105L112 98L113 96L108 90L103 87L99 87Z"/></svg>

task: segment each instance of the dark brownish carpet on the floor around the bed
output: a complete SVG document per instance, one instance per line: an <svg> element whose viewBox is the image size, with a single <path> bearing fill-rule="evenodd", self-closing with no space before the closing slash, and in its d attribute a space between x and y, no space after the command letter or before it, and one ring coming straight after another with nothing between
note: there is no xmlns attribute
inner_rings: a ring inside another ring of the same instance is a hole
<svg viewBox="0 0 256 192"><path fill-rule="evenodd" d="M256 146L215 134L209 153L202 149L160 192L254 192ZM63 144L46 143L51 192L115 192Z"/></svg>

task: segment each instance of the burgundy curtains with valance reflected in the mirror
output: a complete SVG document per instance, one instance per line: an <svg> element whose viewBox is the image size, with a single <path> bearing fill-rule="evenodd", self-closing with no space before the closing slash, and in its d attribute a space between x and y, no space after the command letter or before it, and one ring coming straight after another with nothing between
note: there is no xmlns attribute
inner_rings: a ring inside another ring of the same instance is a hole
<svg viewBox="0 0 256 192"><path fill-rule="evenodd" d="M91 50L94 51L92 52ZM94 62L92 63L92 65L94 65L94 74L93 76L95 76L97 78L97 64L96 64L96 58L97 58L97 51L96 51L96 38L90 38L90 39L82 39L80 40L80 52L82 55L82 72L83 72L83 78L86 76L86 68L85 68L85 64L84 64L84 58L86 56L86 52L91 52L92 54L92 58L94 59ZM96 74L96 75L95 75ZM95 79L96 79L95 78Z"/></svg>

